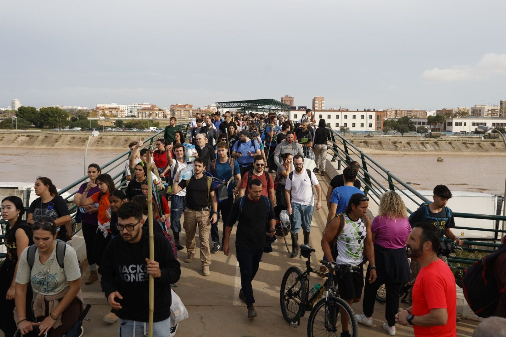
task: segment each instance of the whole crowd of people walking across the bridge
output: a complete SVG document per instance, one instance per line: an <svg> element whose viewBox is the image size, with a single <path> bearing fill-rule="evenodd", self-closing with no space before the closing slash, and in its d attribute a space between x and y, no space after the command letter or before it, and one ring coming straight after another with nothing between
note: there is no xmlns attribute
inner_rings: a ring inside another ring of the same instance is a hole
<svg viewBox="0 0 506 337"><path fill-rule="evenodd" d="M290 257L294 258L299 252L300 229L302 243L308 245L314 212L322 208L317 175L325 174L330 133L325 120L317 124L310 109L297 122L275 113L232 116L227 111L223 116L217 112L195 117L186 135L172 117L163 137L154 142L154 151L144 148L141 139L132 141L122 178L126 186L118 189L99 165L90 164L89 181L82 183L74 196L90 269L85 285L97 281L100 274L102 291L111 307L104 320L119 320L120 336L146 334L149 275L155 278L153 335L176 334L177 325L171 323L168 310L171 284L181 275L178 251L186 248L183 261L193 262L197 229L202 275L209 276L212 254L220 250L230 254L230 236L237 226L239 299L247 307L247 317L257 317L251 282L274 239L279 212L286 210L290 216ZM188 144L195 147L193 175L182 179L190 164L185 154ZM305 167L308 158L315 158L313 169ZM340 296L353 304L361 301L363 291L363 313L356 318L370 326L376 292L385 284L383 328L388 334L396 334L397 323L413 325L416 336L456 335L455 282L448 265L437 255L443 237L462 245L451 230L455 222L446 206L452 197L450 190L436 186L434 201L409 216L401 197L395 191L385 192L379 214L370 219L369 198L357 178L360 170L358 162L349 163L326 190L328 214L322 217L327 224L321 234L324 259L360 268L358 273L337 280ZM148 258L149 185L153 193L154 260ZM22 220L20 198L2 201L2 217L9 225L5 239L8 257L0 270L0 329L9 337L18 328L22 333L37 328L41 333L62 336L83 309L80 265L67 243L72 231L67 204L51 179L38 177L34 187L38 198L29 205L26 221ZM218 227L220 218L222 228ZM316 235L319 239L320 233ZM502 273L498 278L500 284L506 283L505 276ZM400 288L410 279L415 279L412 306L399 310ZM506 316L505 307L506 299L502 298L498 316ZM341 319L341 336L351 335L346 315Z"/></svg>

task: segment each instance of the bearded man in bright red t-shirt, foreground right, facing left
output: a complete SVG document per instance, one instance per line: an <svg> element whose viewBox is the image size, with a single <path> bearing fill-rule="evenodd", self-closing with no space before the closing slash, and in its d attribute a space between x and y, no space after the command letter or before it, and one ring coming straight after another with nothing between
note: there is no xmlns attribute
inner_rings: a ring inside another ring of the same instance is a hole
<svg viewBox="0 0 506 337"><path fill-rule="evenodd" d="M400 309L396 322L413 325L414 335L455 337L457 293L450 267L439 259L440 232L427 222L416 223L406 246L411 259L421 264L413 285L413 305Z"/></svg>

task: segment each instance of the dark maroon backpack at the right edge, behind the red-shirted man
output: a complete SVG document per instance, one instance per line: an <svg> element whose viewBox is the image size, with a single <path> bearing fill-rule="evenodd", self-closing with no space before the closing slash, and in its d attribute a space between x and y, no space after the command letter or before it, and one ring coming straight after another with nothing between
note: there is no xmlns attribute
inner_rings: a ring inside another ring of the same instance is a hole
<svg viewBox="0 0 506 337"><path fill-rule="evenodd" d="M499 297L505 291L504 286L497 288L494 274L494 261L501 254L506 254L506 245L464 269L462 276L464 297L471 310L483 318L494 314Z"/></svg>

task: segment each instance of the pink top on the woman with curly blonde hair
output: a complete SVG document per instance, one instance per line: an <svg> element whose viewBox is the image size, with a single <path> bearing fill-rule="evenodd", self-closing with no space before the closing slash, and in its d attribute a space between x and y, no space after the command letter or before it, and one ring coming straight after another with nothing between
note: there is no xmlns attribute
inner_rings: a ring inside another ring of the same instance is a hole
<svg viewBox="0 0 506 337"><path fill-rule="evenodd" d="M372 220L371 231L376 233L375 244L384 248L397 249L406 247L411 226L408 218L387 219L386 216L377 216Z"/></svg>

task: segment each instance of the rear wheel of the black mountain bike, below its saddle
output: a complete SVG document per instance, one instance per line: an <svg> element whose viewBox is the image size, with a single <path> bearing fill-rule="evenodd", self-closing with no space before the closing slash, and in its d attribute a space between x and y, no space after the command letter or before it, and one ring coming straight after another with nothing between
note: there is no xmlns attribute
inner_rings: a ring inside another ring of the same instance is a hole
<svg viewBox="0 0 506 337"><path fill-rule="evenodd" d="M306 282L302 277L302 271L297 267L290 267L286 270L281 281L281 292L279 302L283 318L291 323L299 312L304 310L301 302L306 299Z"/></svg>

